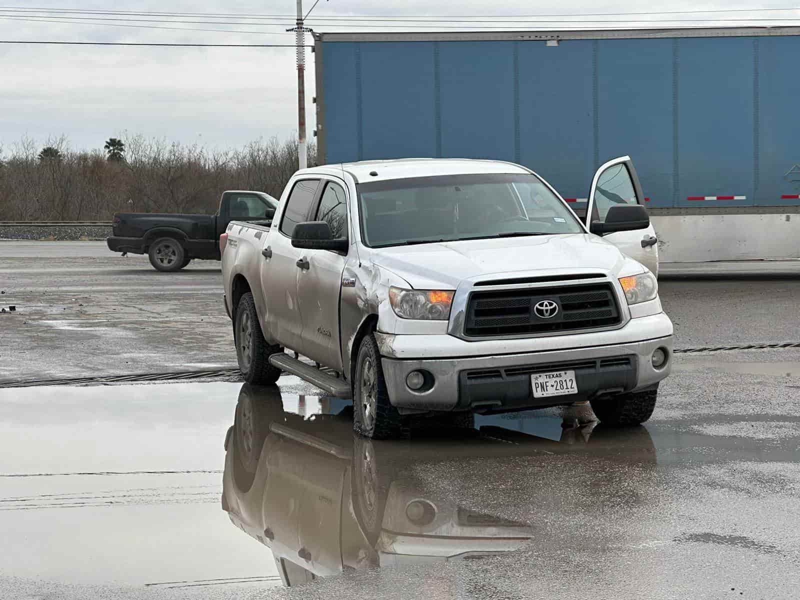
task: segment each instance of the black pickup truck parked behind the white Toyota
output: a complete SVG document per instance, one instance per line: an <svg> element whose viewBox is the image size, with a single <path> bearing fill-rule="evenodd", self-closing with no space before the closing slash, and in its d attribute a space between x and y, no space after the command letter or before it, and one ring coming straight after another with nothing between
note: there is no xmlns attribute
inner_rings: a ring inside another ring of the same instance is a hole
<svg viewBox="0 0 800 600"><path fill-rule="evenodd" d="M263 192L222 193L217 214L114 214L109 250L148 254L159 271L177 271L192 258L220 259L219 236L233 221L272 222L278 201Z"/></svg>

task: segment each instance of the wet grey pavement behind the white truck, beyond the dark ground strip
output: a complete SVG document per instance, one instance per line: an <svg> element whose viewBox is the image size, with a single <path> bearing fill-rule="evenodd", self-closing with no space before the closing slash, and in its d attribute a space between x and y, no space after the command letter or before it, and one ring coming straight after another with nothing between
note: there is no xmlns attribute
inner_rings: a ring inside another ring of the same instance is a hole
<svg viewBox="0 0 800 600"><path fill-rule="evenodd" d="M762 279L662 278L675 347L800 342L800 270L786 278L791 269L772 262ZM0 307L17 306L0 313L0 380L236 366L216 261L158 273L105 242L0 242L0 291Z"/></svg>

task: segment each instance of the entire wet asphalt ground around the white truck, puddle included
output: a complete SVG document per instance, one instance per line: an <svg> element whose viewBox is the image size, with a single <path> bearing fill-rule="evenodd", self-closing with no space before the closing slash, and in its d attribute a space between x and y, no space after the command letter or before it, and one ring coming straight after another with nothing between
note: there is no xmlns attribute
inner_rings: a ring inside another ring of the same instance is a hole
<svg viewBox="0 0 800 600"><path fill-rule="evenodd" d="M4 243L0 379L234 363L218 263ZM676 347L800 341L797 279L660 285ZM0 598L796 598L798 398L798 349L676 355L638 428L402 442L289 377L0 389Z"/></svg>

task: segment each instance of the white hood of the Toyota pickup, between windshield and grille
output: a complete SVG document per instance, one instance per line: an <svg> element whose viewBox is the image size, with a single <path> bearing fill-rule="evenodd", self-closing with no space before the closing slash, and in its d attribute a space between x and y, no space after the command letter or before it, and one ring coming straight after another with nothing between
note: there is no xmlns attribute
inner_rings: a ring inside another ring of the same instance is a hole
<svg viewBox="0 0 800 600"><path fill-rule="evenodd" d="M374 250L372 261L418 290L454 290L469 278L514 272L610 272L616 277L642 273L638 262L616 246L590 234L489 238Z"/></svg>

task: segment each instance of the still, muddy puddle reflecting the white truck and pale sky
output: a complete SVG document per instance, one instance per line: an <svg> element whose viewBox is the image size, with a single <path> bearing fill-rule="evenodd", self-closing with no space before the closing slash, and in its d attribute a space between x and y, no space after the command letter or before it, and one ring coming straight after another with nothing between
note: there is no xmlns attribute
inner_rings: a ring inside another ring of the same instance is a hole
<svg viewBox="0 0 800 600"><path fill-rule="evenodd" d="M414 468L432 465L449 487L452 467L476 459L487 469L574 452L655 461L645 428L602 430L586 406L449 432L422 423L410 441L372 442L353 433L349 402L281 382L284 392L222 382L0 390L0 452L15 457L0 473L0 529L14 547L0 553L0 573L261 589L486 558L522 547L534 528L482 507L491 490L459 502Z"/></svg>

